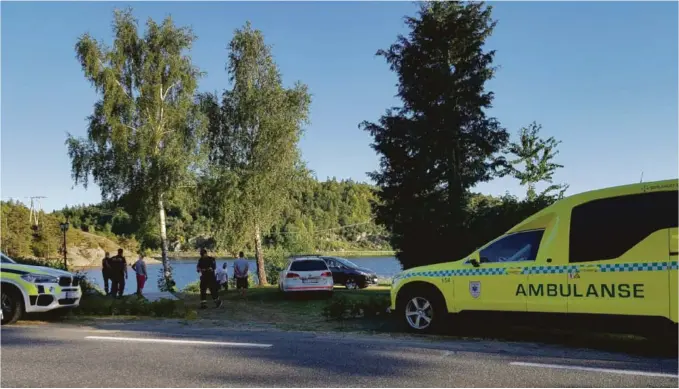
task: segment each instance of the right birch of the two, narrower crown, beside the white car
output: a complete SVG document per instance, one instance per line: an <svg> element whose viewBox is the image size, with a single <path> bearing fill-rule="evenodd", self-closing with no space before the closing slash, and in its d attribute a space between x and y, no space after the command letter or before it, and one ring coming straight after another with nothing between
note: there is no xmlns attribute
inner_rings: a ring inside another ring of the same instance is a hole
<svg viewBox="0 0 679 389"><path fill-rule="evenodd" d="M283 87L271 48L250 23L236 30L229 49L233 88L224 92L221 107L214 95L203 100L221 185L214 198L226 199L217 204L225 230L254 239L257 275L267 284L261 236L289 201L311 97L301 83Z"/></svg>

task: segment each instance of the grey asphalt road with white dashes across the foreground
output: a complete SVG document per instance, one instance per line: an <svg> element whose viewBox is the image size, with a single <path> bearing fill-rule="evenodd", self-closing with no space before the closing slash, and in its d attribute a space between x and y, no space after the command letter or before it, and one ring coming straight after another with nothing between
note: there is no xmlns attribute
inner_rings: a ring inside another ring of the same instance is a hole
<svg viewBox="0 0 679 389"><path fill-rule="evenodd" d="M0 331L2 387L674 387L676 359L160 322Z"/></svg>

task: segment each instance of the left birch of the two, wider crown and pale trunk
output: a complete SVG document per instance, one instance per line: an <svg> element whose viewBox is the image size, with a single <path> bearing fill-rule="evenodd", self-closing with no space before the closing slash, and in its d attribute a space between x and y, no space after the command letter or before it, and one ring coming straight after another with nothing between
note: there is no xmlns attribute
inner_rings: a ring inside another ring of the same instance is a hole
<svg viewBox="0 0 679 389"><path fill-rule="evenodd" d="M131 196L139 215L160 222L164 278L167 258L166 201L191 179L200 155L201 123L193 101L200 76L186 52L195 36L170 17L149 19L139 36L131 10L115 11L114 41L106 47L89 34L75 45L85 77L100 95L89 116L87 138L66 141L76 184L89 176L104 199Z"/></svg>

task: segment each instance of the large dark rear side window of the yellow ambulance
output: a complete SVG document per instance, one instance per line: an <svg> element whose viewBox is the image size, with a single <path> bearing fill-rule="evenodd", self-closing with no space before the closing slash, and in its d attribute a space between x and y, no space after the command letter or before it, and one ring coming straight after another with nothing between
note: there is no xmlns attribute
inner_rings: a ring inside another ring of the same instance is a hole
<svg viewBox="0 0 679 389"><path fill-rule="evenodd" d="M678 200L677 191L650 192L595 200L574 207L569 262L619 258L652 233L677 227Z"/></svg>

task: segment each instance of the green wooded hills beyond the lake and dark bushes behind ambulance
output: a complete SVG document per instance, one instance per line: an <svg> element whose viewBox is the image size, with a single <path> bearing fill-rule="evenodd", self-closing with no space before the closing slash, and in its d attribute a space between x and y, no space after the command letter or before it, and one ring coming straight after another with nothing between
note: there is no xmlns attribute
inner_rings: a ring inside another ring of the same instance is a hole
<svg viewBox="0 0 679 389"><path fill-rule="evenodd" d="M266 249L287 253L340 250L391 250L389 234L373 220L371 203L375 187L353 181L308 180L294 196L294 206L283 213L264 235ZM474 194L469 202L474 215L468 228L480 246L553 201L552 197L520 200L515 196ZM190 206L189 204L194 204ZM215 238L214 221L198 202L185 201L168 209L171 251L196 251L200 247L228 252ZM131 250L160 250L157 223L140 223L123 204L66 207L40 216L38 230L29 221L30 210L19 202L2 202L2 250L15 257L54 257L59 254L62 233L59 223L68 220L69 245L87 245L78 231L105 236ZM252 251L252 247L244 247Z"/></svg>

